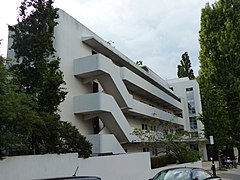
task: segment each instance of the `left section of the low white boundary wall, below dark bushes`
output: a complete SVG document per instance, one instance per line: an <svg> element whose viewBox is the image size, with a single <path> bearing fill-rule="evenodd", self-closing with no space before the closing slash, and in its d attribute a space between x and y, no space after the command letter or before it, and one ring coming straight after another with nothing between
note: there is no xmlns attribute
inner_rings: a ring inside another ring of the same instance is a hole
<svg viewBox="0 0 240 180"><path fill-rule="evenodd" d="M71 176L78 166L77 157L77 154L7 157L0 160L0 180Z"/></svg>

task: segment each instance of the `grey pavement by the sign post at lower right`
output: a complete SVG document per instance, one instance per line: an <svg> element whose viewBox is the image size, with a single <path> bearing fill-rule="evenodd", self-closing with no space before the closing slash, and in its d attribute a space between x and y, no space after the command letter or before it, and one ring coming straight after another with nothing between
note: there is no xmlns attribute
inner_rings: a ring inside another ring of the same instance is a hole
<svg viewBox="0 0 240 180"><path fill-rule="evenodd" d="M223 180L240 180L240 165L238 165L237 168L220 170L218 161L215 161L214 164L216 167L217 176L220 176ZM212 162L211 161L203 162L202 166L204 169L212 172L212 170L211 170Z"/></svg>

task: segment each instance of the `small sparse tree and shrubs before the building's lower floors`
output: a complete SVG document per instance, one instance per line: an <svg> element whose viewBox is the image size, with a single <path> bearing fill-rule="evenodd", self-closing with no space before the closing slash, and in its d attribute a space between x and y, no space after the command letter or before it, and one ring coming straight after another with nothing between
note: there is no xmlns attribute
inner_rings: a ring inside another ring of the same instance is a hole
<svg viewBox="0 0 240 180"><path fill-rule="evenodd" d="M155 121L154 121L155 122ZM156 122L156 124L158 124ZM200 158L199 152L190 149L187 140L191 140L191 133L187 131L170 132L174 128L172 123L161 124L162 130L134 129L133 134L148 148L158 149L158 154L172 154L179 163L193 162Z"/></svg>

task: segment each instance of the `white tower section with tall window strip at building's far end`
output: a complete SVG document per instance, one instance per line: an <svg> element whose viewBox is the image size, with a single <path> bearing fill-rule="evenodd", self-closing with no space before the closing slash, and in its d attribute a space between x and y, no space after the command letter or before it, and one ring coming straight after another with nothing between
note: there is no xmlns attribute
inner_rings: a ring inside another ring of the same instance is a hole
<svg viewBox="0 0 240 180"><path fill-rule="evenodd" d="M173 92L182 99L184 130L192 133L190 146L198 149L203 159L207 160L207 140L203 132L204 125L199 120L202 114L199 84L196 80L189 80L189 78L172 79L167 82Z"/></svg>

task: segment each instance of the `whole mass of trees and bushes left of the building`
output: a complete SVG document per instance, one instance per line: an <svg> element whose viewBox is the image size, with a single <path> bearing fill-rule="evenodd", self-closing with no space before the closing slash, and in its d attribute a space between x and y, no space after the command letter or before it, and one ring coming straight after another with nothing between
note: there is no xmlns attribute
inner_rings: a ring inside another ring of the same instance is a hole
<svg viewBox="0 0 240 180"><path fill-rule="evenodd" d="M90 142L58 114L67 93L53 47L58 14L52 4L23 0L18 24L9 26L16 60L5 66L1 57L0 154L91 154Z"/></svg>

